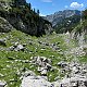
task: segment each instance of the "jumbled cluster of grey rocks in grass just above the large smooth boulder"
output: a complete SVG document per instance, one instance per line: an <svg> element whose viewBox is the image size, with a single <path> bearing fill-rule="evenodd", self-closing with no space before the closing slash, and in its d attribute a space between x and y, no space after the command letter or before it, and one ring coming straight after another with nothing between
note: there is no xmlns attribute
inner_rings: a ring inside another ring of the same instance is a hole
<svg viewBox="0 0 87 87"><path fill-rule="evenodd" d="M32 62L38 65L37 71L44 75L47 76L48 71L51 71L51 60L46 57L32 57Z"/></svg>

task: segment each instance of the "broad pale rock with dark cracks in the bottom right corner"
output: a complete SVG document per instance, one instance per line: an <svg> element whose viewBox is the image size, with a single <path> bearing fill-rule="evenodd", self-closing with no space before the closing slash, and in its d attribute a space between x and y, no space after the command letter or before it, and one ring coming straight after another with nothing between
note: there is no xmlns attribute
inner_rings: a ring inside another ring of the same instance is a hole
<svg viewBox="0 0 87 87"><path fill-rule="evenodd" d="M75 76L71 78L63 78L60 87L87 87L87 78L84 76Z"/></svg>

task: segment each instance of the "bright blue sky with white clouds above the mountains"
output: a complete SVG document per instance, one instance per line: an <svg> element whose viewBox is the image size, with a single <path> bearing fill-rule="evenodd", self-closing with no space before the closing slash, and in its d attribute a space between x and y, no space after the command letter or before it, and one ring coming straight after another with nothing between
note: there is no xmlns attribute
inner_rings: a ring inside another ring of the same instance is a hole
<svg viewBox="0 0 87 87"><path fill-rule="evenodd" d="M40 11L40 15L53 14L63 10L85 10L87 0L26 0L32 7Z"/></svg>

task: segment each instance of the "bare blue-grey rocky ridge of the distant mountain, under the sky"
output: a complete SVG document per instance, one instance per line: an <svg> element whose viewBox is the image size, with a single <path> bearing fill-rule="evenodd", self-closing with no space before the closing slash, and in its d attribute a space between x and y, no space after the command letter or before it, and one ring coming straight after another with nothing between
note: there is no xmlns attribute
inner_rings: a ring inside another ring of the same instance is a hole
<svg viewBox="0 0 87 87"><path fill-rule="evenodd" d="M73 15L80 15L78 10L64 10L55 12L54 14L47 15L45 18L52 23L55 26L58 23L62 22L64 18L71 17Z"/></svg>

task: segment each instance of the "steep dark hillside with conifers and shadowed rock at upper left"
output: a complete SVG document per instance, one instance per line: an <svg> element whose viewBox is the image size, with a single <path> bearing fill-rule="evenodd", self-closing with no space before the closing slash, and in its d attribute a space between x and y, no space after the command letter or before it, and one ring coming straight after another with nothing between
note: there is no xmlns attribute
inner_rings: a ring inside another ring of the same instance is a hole
<svg viewBox="0 0 87 87"><path fill-rule="evenodd" d="M0 0L0 17L14 28L35 36L46 34L51 26L51 23L39 16L39 10L33 10L25 0Z"/></svg>

